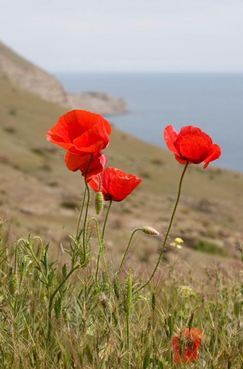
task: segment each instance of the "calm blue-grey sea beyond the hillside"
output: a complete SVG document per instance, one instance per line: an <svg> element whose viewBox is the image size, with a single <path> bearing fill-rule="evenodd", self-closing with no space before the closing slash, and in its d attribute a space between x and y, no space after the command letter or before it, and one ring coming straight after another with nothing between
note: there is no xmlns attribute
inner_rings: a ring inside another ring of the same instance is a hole
<svg viewBox="0 0 243 369"><path fill-rule="evenodd" d="M68 92L108 92L129 112L118 129L165 148L164 128L200 127L222 155L214 164L243 171L243 74L56 73Z"/></svg>

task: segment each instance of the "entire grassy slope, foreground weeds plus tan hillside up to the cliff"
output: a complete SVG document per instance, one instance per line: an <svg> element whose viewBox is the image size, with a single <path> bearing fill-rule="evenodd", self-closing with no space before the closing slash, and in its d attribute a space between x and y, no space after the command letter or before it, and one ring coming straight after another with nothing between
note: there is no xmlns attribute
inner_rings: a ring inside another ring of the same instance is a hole
<svg viewBox="0 0 243 369"><path fill-rule="evenodd" d="M236 246L243 232L243 174L188 168L171 234L172 240L185 236L185 246L172 252L168 241L152 284L138 291L156 264L182 166L171 153L128 134L124 141L113 129L108 165L140 173L143 181L122 205L112 204L96 279L96 230L90 224L85 243L82 234L75 240L66 232L75 234L82 177L67 170L63 150L45 139L64 112L1 78L0 215L13 221L3 224L0 240L0 368L240 369L243 297ZM92 206L89 217L94 215ZM118 275L131 231L147 224L161 238L136 235ZM31 236L17 241L16 234L30 231L44 245L51 240L50 248L40 248ZM224 258L218 240L227 247ZM205 336L199 358L175 365L172 337L190 325Z"/></svg>

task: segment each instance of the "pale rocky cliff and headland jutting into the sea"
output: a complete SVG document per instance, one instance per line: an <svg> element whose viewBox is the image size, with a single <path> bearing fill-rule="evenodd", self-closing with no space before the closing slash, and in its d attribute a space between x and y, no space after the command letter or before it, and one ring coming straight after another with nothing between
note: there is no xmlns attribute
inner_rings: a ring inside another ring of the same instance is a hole
<svg viewBox="0 0 243 369"><path fill-rule="evenodd" d="M107 93L66 92L51 74L17 55L0 42L0 74L8 77L22 89L34 92L44 100L70 109L84 109L100 114L121 114L126 111L124 100Z"/></svg>

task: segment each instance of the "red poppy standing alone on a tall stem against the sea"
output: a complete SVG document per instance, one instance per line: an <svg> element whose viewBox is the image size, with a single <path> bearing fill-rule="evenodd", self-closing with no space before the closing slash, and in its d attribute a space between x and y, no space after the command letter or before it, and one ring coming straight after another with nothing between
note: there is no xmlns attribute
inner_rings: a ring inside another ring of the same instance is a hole
<svg viewBox="0 0 243 369"><path fill-rule="evenodd" d="M197 127L182 127L178 134L173 126L167 126L164 130L164 140L181 164L186 164L187 161L189 164L204 162L204 168L207 168L209 162L221 155L220 147L213 144L211 137Z"/></svg>

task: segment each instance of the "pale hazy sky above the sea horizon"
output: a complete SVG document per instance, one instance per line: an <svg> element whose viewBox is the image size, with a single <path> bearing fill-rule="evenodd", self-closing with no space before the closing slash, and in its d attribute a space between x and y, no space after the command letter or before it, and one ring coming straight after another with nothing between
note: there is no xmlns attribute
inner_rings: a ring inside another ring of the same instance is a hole
<svg viewBox="0 0 243 369"><path fill-rule="evenodd" d="M243 0L0 0L0 39L52 72L243 72Z"/></svg>

